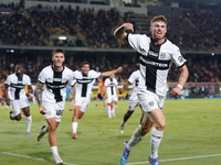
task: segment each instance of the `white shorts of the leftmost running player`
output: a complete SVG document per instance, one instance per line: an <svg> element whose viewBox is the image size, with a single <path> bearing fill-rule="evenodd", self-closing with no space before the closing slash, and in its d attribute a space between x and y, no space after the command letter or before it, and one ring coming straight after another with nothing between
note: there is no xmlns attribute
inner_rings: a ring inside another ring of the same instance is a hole
<svg viewBox="0 0 221 165"><path fill-rule="evenodd" d="M21 112L22 108L30 107L29 100L22 99L22 100L10 100L11 103L11 110L14 116L18 116Z"/></svg>

